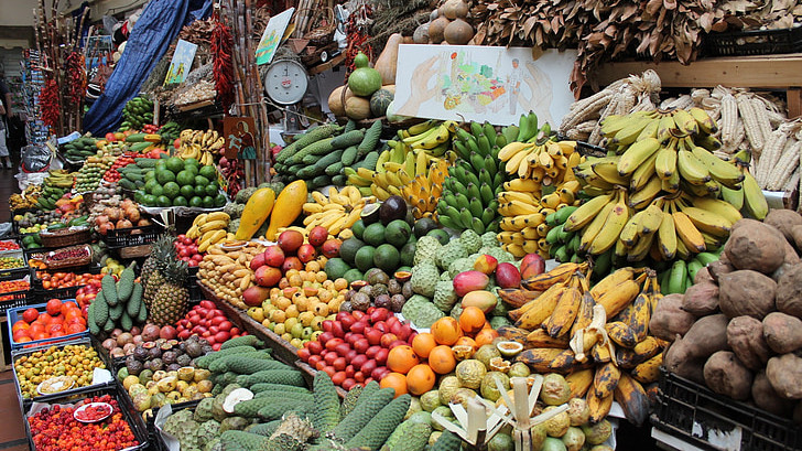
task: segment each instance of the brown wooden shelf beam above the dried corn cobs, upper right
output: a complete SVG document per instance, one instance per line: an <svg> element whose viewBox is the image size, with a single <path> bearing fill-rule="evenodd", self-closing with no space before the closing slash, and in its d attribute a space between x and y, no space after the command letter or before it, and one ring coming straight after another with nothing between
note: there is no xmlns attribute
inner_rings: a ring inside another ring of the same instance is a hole
<svg viewBox="0 0 802 451"><path fill-rule="evenodd" d="M663 87L712 88L723 85L787 90L788 116L802 115L802 53L704 58L689 65L675 61L606 63L596 73L596 80L605 86L646 69L657 72Z"/></svg>

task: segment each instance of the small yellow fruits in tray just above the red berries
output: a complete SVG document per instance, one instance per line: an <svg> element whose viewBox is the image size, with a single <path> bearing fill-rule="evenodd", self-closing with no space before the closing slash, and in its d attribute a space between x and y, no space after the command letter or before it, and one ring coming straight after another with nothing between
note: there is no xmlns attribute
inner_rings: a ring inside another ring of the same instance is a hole
<svg viewBox="0 0 802 451"><path fill-rule="evenodd" d="M75 382L75 387L89 386L95 368L106 368L106 365L97 351L83 344L51 346L14 361L14 373L25 399L39 396L36 387L51 377L67 376Z"/></svg>

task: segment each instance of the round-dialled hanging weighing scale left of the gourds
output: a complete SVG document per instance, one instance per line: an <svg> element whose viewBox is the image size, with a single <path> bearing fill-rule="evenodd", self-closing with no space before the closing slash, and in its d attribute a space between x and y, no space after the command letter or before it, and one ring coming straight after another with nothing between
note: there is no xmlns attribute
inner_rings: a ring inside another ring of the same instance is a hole
<svg viewBox="0 0 802 451"><path fill-rule="evenodd" d="M284 105L284 130L288 135L300 131L299 103L306 94L310 76L303 64L293 58L279 58L268 66L264 92L271 100Z"/></svg>

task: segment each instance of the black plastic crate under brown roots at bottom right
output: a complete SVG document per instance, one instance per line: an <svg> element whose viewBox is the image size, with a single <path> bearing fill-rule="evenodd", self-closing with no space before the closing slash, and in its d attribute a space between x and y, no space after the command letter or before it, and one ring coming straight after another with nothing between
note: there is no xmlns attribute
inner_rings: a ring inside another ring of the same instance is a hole
<svg viewBox="0 0 802 451"><path fill-rule="evenodd" d="M661 368L654 426L704 450L725 449L723 433L735 431L740 443L726 449L781 451L802 449L802 429L745 402L717 395L706 387Z"/></svg>

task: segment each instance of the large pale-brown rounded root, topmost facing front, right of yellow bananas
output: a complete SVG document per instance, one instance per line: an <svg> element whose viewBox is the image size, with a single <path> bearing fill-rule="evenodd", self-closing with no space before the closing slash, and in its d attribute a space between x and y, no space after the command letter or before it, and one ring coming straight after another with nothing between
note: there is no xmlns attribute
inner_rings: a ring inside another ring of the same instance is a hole
<svg viewBox="0 0 802 451"><path fill-rule="evenodd" d="M724 254L738 269L771 273L784 260L783 241L776 228L754 219L741 219L724 245Z"/></svg>

